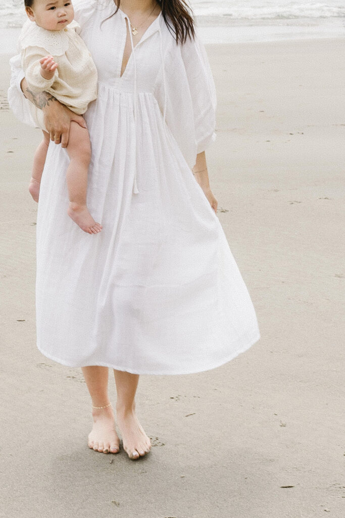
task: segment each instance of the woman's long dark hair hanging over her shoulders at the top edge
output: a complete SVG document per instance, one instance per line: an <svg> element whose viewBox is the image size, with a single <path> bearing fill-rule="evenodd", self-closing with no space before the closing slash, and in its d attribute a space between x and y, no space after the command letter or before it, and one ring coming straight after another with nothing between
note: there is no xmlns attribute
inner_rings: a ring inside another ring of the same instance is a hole
<svg viewBox="0 0 345 518"><path fill-rule="evenodd" d="M179 41L184 43L187 37L194 38L194 20L191 9L184 0L156 0L156 2L161 8L164 22L166 22L171 34L174 35L176 43ZM121 0L114 0L114 3L116 5L115 15L120 7Z"/></svg>

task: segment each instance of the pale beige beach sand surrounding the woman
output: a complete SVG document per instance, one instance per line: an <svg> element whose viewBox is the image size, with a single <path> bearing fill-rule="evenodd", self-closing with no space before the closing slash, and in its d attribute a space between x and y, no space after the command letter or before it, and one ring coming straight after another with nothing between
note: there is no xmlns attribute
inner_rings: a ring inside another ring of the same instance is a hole
<svg viewBox="0 0 345 518"><path fill-rule="evenodd" d="M344 50L343 39L207 47L211 184L261 339L215 370L143 376L154 447L138 462L87 448L80 369L36 349L27 183L40 133L8 111L1 56L0 516L343 516Z"/></svg>

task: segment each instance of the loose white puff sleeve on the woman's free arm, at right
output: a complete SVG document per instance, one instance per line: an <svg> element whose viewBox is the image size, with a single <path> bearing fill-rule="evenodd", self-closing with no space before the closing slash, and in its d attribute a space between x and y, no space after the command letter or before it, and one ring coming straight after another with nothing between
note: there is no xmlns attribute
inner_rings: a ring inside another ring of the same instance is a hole
<svg viewBox="0 0 345 518"><path fill-rule="evenodd" d="M216 138L216 90L211 68L198 35L176 45L169 34L161 37L160 44L164 57L154 95L160 111L166 113L172 136L192 168L197 154Z"/></svg>

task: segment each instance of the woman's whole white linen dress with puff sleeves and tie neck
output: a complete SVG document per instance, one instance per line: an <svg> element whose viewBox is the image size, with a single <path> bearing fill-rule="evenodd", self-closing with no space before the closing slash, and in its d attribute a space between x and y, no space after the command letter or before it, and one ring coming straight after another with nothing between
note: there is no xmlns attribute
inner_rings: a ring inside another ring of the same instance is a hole
<svg viewBox="0 0 345 518"><path fill-rule="evenodd" d="M68 155L51 143L37 218L37 344L56 362L138 374L182 374L228 362L259 340L247 287L194 178L215 138L214 83L198 38L176 45L162 15L122 77L126 15L76 9L98 69L85 114L92 143L87 204L102 232L67 215ZM17 68L16 68L17 66ZM32 123L19 93L10 104Z"/></svg>

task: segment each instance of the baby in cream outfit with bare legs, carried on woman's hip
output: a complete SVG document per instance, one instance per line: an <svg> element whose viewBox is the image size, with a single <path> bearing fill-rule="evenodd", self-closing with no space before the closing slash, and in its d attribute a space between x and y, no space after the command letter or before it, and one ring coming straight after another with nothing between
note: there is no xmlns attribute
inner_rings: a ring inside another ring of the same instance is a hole
<svg viewBox="0 0 345 518"><path fill-rule="evenodd" d="M24 0L27 21L20 36L22 66L28 89L46 91L78 115L97 97L97 69L78 34L74 11L68 0ZM29 192L38 202L40 181L50 135L44 127L43 112L30 103L33 119L43 131L43 141L34 156ZM96 223L86 206L87 171L91 160L88 131L77 122L70 124L67 153L68 215L88 234L97 234ZM48 171L49 174L49 171Z"/></svg>

